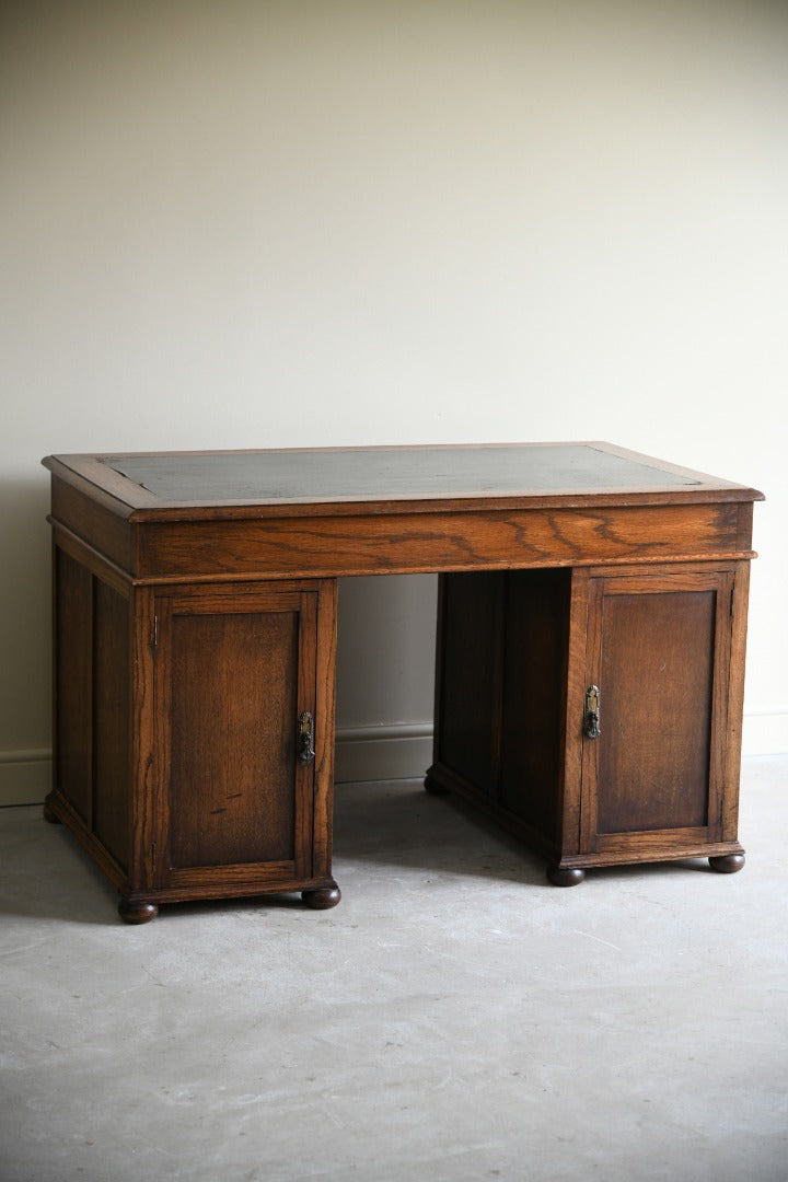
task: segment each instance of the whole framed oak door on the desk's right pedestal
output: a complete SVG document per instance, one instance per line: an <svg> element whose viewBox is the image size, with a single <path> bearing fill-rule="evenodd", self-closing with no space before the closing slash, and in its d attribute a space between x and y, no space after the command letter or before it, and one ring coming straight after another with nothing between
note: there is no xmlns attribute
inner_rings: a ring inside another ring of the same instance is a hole
<svg viewBox="0 0 788 1182"><path fill-rule="evenodd" d="M591 579L581 852L723 839L734 571Z"/></svg>

